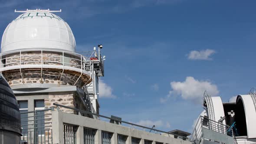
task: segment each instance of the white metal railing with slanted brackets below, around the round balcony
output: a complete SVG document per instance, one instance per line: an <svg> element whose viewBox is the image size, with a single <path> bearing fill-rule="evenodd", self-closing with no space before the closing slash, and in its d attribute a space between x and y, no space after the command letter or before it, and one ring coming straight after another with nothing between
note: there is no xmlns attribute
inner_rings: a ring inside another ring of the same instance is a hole
<svg viewBox="0 0 256 144"><path fill-rule="evenodd" d="M22 55L22 52L41 52L41 55ZM56 52L56 53L62 53L62 56L43 56L44 52ZM19 62L10 62L10 63L3 63L3 60L6 60L7 58L3 58L3 56L7 55L7 54L11 54L11 53L19 53L19 56L13 56L12 58L16 58L19 57L20 60ZM93 53L93 52L91 52ZM79 56L80 59L74 59L74 58L69 58L69 57L65 57L64 54L69 54L72 56ZM26 60L22 60L22 57L32 57L32 58L38 58L41 57L40 61L26 61ZM50 61L50 60L43 60L43 57L59 57L60 59L62 59L62 62L56 62L56 61ZM64 58L69 58L69 59L73 59L76 62L80 62L80 65L71 63L71 62L64 62ZM86 68L85 65L83 65L85 62L89 62L91 63L92 60L90 60L90 58L82 56L78 53L75 52L65 52L65 51L56 51L56 50L20 50L20 51L12 51L12 52L4 52L1 53L0 55L0 72L6 71L6 70L11 70L11 69L20 69L20 74L22 76L23 79L23 74L22 74L22 69L25 68L40 68L41 69L41 77L42 77L42 73L43 73L43 68L55 68L55 69L62 69L62 74L64 72L64 70L72 70L72 71L76 71L81 73L79 76L79 79L81 78L82 74L86 74L89 76L92 76L92 68ZM22 63L26 63L26 62L38 62L40 64L22 64ZM49 62L49 63L59 63L60 65L54 65L54 64L44 64L45 62ZM16 64L16 65L12 65L12 64ZM8 66L10 65L10 66ZM62 75L60 77L60 79L62 78ZM78 80L79 80L78 79ZM78 82L77 80L77 82ZM77 83L75 82L75 84Z"/></svg>

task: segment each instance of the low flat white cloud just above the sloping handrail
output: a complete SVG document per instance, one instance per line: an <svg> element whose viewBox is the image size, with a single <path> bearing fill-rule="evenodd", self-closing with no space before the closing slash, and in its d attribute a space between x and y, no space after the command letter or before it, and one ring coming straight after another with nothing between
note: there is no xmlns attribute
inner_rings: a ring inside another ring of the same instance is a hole
<svg viewBox="0 0 256 144"><path fill-rule="evenodd" d="M160 128L160 127L171 128L171 125L169 122L164 122L161 120L158 120L158 121L141 120L136 122L135 124L143 125L145 127L152 127L153 125L155 125L156 128Z"/></svg>

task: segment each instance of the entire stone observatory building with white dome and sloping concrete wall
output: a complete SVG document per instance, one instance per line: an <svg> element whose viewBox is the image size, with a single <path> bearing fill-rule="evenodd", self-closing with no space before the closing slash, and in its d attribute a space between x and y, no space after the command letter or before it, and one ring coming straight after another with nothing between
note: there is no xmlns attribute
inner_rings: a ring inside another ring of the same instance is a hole
<svg viewBox="0 0 256 144"><path fill-rule="evenodd" d="M69 25L53 14L60 11L16 12L22 14L3 33L0 72L18 101L24 144L190 144L184 136L99 120L102 45L76 52Z"/></svg>

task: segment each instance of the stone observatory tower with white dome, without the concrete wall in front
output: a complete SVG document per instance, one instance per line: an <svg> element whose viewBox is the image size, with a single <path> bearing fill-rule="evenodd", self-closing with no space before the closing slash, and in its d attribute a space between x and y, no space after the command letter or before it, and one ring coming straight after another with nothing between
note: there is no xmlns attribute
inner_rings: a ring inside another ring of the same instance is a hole
<svg viewBox="0 0 256 144"><path fill-rule="evenodd" d="M21 112L50 108L56 102L98 113L98 77L104 76L100 47L91 52L76 52L69 25L53 14L59 11L16 12L22 14L3 33L0 72L18 103L24 106ZM70 109L61 110L76 114ZM46 114L45 118L49 118ZM30 116L33 114L29 113Z"/></svg>

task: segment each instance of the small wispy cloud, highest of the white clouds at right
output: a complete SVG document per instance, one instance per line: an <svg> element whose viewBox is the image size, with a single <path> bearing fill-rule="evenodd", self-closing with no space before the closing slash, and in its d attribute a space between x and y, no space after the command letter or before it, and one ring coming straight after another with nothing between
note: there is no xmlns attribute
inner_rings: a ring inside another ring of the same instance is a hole
<svg viewBox="0 0 256 144"><path fill-rule="evenodd" d="M200 60L212 60L210 58L211 55L216 53L213 49L206 49L206 50L193 50L188 54L188 59L200 59Z"/></svg>

